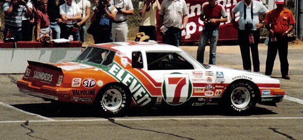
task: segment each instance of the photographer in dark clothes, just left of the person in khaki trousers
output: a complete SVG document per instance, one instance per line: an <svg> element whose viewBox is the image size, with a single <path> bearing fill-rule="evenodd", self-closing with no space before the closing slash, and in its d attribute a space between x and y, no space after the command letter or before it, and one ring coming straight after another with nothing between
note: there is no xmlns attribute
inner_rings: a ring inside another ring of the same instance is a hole
<svg viewBox="0 0 303 140"><path fill-rule="evenodd" d="M95 0L90 27L93 30L94 43L113 42L112 21L116 20L118 10L110 6L109 0Z"/></svg>

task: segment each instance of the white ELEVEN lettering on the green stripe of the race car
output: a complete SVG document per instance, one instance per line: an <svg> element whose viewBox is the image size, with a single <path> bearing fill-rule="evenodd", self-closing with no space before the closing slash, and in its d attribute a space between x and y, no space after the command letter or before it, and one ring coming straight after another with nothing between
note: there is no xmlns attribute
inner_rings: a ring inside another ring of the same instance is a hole
<svg viewBox="0 0 303 140"><path fill-rule="evenodd" d="M113 63L112 67L109 70L105 70L105 72L129 87L130 92L133 94L132 97L138 106L144 106L151 101L150 94L143 84L133 74L121 68L117 63Z"/></svg>

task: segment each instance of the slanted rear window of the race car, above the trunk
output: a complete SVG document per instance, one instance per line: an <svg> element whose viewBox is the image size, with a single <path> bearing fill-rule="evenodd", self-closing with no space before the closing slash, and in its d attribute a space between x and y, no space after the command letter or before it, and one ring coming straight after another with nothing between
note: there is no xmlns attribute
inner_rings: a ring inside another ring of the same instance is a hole
<svg viewBox="0 0 303 140"><path fill-rule="evenodd" d="M114 60L115 53L103 48L88 47L80 54L76 61L110 66Z"/></svg>

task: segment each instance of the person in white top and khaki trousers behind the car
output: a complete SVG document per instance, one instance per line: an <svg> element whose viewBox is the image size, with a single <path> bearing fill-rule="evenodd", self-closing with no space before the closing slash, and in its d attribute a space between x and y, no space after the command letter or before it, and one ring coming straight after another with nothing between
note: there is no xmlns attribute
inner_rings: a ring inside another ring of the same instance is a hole
<svg viewBox="0 0 303 140"><path fill-rule="evenodd" d="M113 21L112 27L113 41L127 41L127 16L134 13L132 2L131 0L111 0L110 4L118 10L117 19Z"/></svg>

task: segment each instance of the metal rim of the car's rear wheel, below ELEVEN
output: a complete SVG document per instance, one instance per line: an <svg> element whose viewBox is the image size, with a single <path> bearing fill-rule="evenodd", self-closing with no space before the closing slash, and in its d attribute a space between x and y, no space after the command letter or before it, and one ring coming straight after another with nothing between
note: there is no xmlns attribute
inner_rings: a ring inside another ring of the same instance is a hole
<svg viewBox="0 0 303 140"><path fill-rule="evenodd" d="M109 111L118 109L122 104L121 92L117 89L109 89L102 97L102 103L104 108Z"/></svg>

